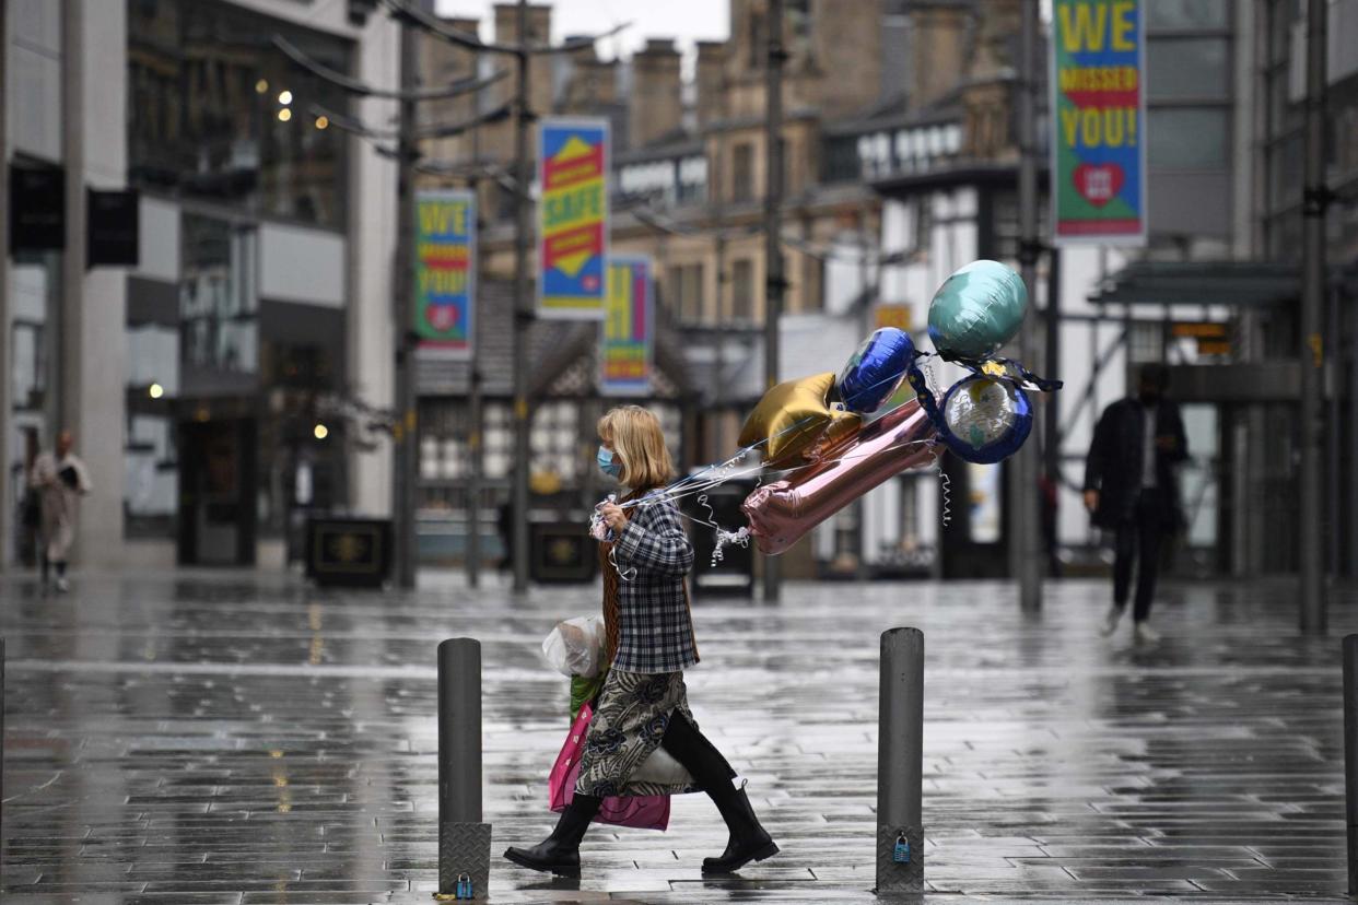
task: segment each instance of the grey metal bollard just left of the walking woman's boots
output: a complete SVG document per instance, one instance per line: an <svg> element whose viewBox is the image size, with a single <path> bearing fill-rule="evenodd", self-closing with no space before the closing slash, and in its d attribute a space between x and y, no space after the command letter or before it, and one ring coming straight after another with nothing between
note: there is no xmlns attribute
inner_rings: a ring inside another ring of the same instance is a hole
<svg viewBox="0 0 1358 905"><path fill-rule="evenodd" d="M439 644L439 897L485 900L489 882L490 824L481 822L481 642L451 638Z"/></svg>

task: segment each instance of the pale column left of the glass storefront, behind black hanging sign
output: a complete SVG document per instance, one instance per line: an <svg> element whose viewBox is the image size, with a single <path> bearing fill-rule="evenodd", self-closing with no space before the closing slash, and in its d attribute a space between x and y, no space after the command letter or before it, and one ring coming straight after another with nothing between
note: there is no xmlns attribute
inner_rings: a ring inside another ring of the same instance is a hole
<svg viewBox="0 0 1358 905"><path fill-rule="evenodd" d="M126 408L128 277L86 266L86 189L126 185L126 4L62 0L62 157L67 166L67 248L61 275L61 425L94 493L83 502L75 560L122 560L122 446Z"/></svg>

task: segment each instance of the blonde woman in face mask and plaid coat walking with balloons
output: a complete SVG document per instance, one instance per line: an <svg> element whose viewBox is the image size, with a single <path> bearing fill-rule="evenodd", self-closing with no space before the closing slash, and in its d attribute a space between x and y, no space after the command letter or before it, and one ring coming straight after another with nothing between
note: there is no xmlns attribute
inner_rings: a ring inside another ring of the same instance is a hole
<svg viewBox="0 0 1358 905"><path fill-rule="evenodd" d="M650 495L674 479L674 465L656 417L640 406L614 408L599 419L599 468L629 493L619 506L604 503L611 539L600 544L608 676L589 723L574 798L557 829L532 848L511 848L505 858L539 871L580 875L580 840L610 795L706 792L731 832L727 851L702 862L705 874L731 874L751 860L778 852L759 825L744 784L698 731L689 711L683 670L698 662L693 615L683 578L693 547L679 512ZM693 776L694 787L657 786L633 779L637 768L664 748Z"/></svg>

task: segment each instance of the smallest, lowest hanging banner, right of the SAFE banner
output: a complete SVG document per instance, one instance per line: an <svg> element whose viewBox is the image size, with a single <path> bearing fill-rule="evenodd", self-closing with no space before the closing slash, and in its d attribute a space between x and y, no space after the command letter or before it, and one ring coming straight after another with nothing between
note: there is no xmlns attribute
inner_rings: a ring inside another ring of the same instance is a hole
<svg viewBox="0 0 1358 905"><path fill-rule="evenodd" d="M655 293L650 258L608 259L608 294L599 342L599 393L649 396L655 358Z"/></svg>

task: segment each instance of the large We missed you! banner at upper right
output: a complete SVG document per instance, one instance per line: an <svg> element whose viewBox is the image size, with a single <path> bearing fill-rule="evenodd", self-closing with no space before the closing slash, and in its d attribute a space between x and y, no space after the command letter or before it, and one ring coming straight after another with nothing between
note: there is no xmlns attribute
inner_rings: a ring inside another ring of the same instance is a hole
<svg viewBox="0 0 1358 905"><path fill-rule="evenodd" d="M1052 0L1055 244L1146 243L1141 0Z"/></svg>

